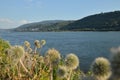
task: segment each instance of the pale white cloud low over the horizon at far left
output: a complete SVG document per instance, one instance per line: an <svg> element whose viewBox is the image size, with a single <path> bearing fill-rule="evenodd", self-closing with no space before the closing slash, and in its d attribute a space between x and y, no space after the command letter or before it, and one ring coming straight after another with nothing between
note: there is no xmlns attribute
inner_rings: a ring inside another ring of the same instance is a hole
<svg viewBox="0 0 120 80"><path fill-rule="evenodd" d="M28 23L27 20L15 21L9 18L0 18L0 29L15 28L26 23Z"/></svg>

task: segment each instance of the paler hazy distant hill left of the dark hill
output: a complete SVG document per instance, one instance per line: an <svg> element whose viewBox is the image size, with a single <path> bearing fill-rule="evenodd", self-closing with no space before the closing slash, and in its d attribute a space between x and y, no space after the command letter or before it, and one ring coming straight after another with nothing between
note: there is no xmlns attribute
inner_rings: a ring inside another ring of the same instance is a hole
<svg viewBox="0 0 120 80"><path fill-rule="evenodd" d="M14 29L15 31L60 31L61 27L64 27L73 21L63 20L50 20L37 23L29 23L19 26Z"/></svg>

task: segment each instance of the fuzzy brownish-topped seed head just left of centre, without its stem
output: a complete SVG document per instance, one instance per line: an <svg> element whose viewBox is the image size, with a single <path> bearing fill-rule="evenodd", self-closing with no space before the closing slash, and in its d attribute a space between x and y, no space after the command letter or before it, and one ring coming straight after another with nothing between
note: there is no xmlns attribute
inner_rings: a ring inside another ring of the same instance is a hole
<svg viewBox="0 0 120 80"><path fill-rule="evenodd" d="M47 56L49 57L49 60L50 60L52 63L58 62L59 59L61 58L59 51L57 51L57 50L54 49L54 48L49 49L49 50L47 51Z"/></svg>

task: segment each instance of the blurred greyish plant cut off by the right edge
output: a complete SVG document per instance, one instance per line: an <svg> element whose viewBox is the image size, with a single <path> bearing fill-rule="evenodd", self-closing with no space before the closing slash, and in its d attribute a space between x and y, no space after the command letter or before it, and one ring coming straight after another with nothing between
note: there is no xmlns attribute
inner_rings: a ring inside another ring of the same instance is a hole
<svg viewBox="0 0 120 80"><path fill-rule="evenodd" d="M111 48L112 80L120 80L120 47Z"/></svg>

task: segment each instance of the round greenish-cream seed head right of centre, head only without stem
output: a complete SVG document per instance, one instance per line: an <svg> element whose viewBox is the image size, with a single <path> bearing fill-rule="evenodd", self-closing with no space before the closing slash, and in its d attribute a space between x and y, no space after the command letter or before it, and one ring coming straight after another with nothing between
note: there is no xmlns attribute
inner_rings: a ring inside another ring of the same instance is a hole
<svg viewBox="0 0 120 80"><path fill-rule="evenodd" d="M79 59L75 54L70 53L65 59L65 64L68 69L76 69L79 66Z"/></svg>

